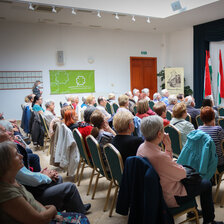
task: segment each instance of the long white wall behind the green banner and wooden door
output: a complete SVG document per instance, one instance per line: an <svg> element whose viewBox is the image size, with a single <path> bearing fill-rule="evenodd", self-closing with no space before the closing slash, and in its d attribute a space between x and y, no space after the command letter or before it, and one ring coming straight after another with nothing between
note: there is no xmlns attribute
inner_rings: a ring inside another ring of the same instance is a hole
<svg viewBox="0 0 224 224"><path fill-rule="evenodd" d="M161 34L8 22L0 22L0 30L0 71L43 71L43 98L56 102L64 101L65 95L50 95L49 70L95 70L95 95L107 96L130 89L130 56L148 51L147 56L157 57L158 71L165 65ZM64 51L64 66L56 64L57 50ZM0 90L5 118L21 119L20 105L30 92Z"/></svg>

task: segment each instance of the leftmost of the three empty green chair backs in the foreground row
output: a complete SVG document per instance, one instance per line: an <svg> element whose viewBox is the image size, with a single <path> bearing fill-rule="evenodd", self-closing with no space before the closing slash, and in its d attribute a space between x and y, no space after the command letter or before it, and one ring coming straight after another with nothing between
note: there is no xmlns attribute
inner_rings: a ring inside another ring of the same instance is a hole
<svg viewBox="0 0 224 224"><path fill-rule="evenodd" d="M86 151L84 139L77 128L75 128L73 130L73 136L76 141L76 144L78 145L78 149L79 149L79 153L80 153L81 157L84 159L86 164L88 164L90 167L93 167L92 163L89 160L87 151Z"/></svg>

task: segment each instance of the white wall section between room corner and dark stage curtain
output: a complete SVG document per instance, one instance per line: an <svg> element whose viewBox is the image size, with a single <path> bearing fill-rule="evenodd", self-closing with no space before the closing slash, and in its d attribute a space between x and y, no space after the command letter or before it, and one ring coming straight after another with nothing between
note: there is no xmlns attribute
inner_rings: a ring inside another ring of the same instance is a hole
<svg viewBox="0 0 224 224"><path fill-rule="evenodd" d="M193 90L193 27L166 34L167 67L184 67L186 85Z"/></svg>

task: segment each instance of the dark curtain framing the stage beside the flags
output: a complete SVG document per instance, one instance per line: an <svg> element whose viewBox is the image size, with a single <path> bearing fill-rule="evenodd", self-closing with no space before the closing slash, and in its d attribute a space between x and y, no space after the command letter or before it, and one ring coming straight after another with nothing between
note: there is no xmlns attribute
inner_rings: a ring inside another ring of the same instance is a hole
<svg viewBox="0 0 224 224"><path fill-rule="evenodd" d="M224 19L194 26L194 96L197 107L203 100L205 50L210 41L224 40Z"/></svg>

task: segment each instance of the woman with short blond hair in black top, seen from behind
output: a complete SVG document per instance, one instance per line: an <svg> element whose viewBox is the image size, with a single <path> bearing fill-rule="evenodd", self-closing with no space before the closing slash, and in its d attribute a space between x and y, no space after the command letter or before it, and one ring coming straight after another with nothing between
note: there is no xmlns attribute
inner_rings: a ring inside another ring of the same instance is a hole
<svg viewBox="0 0 224 224"><path fill-rule="evenodd" d="M132 136L134 132L134 116L128 110L118 111L113 119L113 126L117 132L112 144L121 153L123 162L129 156L135 156L139 145L143 143L143 139L137 136Z"/></svg>

